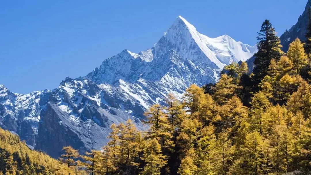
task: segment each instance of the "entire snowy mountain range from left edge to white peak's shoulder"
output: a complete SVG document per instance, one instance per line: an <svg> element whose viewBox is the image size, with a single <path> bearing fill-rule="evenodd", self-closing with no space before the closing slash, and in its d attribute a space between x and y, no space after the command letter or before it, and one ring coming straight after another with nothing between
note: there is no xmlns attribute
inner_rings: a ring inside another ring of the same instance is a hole
<svg viewBox="0 0 311 175"><path fill-rule="evenodd" d="M178 98L191 84L216 82L232 62L245 61L256 46L223 35L209 38L179 16L161 39L138 54L128 50L103 61L85 77L67 77L54 90L22 95L0 85L0 127L54 158L65 145L81 153L99 149L112 123L140 120L168 93Z"/></svg>

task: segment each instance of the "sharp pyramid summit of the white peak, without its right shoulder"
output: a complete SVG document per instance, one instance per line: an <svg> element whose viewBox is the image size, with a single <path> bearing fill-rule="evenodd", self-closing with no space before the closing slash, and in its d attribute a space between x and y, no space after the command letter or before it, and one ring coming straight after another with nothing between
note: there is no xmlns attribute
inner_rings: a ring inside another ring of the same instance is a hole
<svg viewBox="0 0 311 175"><path fill-rule="evenodd" d="M156 57L160 57L169 49L174 49L183 59L204 62L213 69L221 69L225 64L208 48L206 38L208 37L197 32L185 18L178 16L154 46L154 53Z"/></svg>

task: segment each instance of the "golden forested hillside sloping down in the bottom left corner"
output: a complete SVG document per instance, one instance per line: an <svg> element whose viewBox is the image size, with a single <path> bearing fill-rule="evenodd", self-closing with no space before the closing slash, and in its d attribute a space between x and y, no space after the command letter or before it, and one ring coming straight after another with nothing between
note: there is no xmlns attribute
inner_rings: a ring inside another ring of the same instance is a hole
<svg viewBox="0 0 311 175"><path fill-rule="evenodd" d="M28 148L18 135L0 128L1 175L62 175L70 171L58 160Z"/></svg>

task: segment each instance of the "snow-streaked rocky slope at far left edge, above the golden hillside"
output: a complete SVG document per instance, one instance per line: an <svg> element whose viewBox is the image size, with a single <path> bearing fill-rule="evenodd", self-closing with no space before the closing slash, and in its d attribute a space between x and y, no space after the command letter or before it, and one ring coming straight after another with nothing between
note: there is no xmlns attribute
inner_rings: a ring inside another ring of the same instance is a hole
<svg viewBox="0 0 311 175"><path fill-rule="evenodd" d="M44 90L21 95L0 85L0 127L16 132L35 146L41 105L47 102L49 94L49 90Z"/></svg>

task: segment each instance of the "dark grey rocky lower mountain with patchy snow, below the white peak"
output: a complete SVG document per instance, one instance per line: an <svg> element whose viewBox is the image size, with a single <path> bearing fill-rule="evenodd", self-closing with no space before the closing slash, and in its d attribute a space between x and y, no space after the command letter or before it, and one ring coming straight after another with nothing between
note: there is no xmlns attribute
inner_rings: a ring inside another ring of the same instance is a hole
<svg viewBox="0 0 311 175"><path fill-rule="evenodd" d="M66 78L51 92L49 102L43 106L36 149L57 157L64 145L72 145L81 153L99 149L107 143L112 123L132 119L143 110L135 99L124 99L121 92L110 85L97 85L87 78Z"/></svg>

